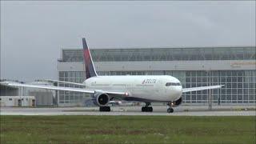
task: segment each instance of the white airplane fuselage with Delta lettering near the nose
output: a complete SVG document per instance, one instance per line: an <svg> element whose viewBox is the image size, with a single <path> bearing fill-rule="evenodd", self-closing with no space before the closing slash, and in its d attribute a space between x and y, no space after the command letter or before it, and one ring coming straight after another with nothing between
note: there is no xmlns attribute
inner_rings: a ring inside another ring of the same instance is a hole
<svg viewBox="0 0 256 144"><path fill-rule="evenodd" d="M97 76L86 79L83 84L91 90L125 91L126 97L152 102L171 102L182 97L181 83L168 75Z"/></svg>

